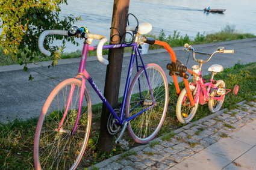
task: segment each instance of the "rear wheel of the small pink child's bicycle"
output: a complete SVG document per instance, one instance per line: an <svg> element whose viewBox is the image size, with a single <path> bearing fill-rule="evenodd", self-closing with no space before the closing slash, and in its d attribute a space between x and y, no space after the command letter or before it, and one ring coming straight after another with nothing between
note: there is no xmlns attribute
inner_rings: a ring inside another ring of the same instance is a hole
<svg viewBox="0 0 256 170"><path fill-rule="evenodd" d="M217 80L216 84L214 84L215 87L218 88L225 88L225 82L223 80ZM215 89L214 89L215 90ZM214 97L220 97L220 95L218 95L217 93L214 94ZM211 112L217 112L220 110L220 108L223 105L225 99L225 95L223 96L222 100L213 100L210 99L208 102L208 108Z"/></svg>

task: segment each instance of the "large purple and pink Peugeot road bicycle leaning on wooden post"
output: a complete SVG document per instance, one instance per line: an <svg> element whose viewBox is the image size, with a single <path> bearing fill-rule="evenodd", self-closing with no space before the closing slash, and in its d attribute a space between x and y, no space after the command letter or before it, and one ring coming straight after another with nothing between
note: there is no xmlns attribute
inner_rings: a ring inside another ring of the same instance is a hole
<svg viewBox="0 0 256 170"><path fill-rule="evenodd" d="M107 129L111 135L120 135L120 142L127 127L134 141L143 144L155 137L160 130L167 111L169 90L166 75L157 64L144 64L139 52L139 44L152 43L151 38L142 37L151 31L150 23L127 26L133 31L133 41L126 44L104 45L107 38L90 34L84 28L73 26L69 31L48 30L39 37L39 48L45 55L51 52L44 49L43 41L47 35L67 35L85 38L78 75L66 79L49 94L36 127L34 138L34 163L36 169L75 169L86 150L92 122L92 103L86 88L86 80L110 111ZM98 46L89 46L93 39L99 39ZM102 49L133 47L126 85L120 108L112 108L101 93L92 77L85 69L87 52L97 50L99 61L108 64L103 58ZM134 63L136 62L136 64ZM136 75L131 81L133 65ZM131 82L131 83L130 83Z"/></svg>

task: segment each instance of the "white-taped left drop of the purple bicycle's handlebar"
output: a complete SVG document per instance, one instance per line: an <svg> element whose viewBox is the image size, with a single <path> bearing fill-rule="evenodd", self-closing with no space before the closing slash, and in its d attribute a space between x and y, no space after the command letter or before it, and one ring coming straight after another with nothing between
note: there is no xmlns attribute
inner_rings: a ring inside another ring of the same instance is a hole
<svg viewBox="0 0 256 170"><path fill-rule="evenodd" d="M42 34L40 34L39 40L38 40L39 50L40 50L40 52L44 53L45 55L50 56L51 52L49 52L48 50L45 49L45 47L43 47L43 41L45 40L45 37L47 35L67 35L67 31L53 29L53 30L43 31Z"/></svg>

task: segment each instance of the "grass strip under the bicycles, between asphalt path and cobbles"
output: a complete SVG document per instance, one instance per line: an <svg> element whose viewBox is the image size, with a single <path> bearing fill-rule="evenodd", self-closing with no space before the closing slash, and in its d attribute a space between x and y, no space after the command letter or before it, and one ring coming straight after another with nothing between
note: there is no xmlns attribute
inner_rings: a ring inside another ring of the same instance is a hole
<svg viewBox="0 0 256 170"><path fill-rule="evenodd" d="M224 80L227 88L233 88L235 84L240 87L237 96L229 93L225 97L223 108L234 108L236 103L243 100L255 101L256 96L256 62L242 65L240 63L231 68L225 68L221 73L216 74L215 79ZM204 76L206 80L210 79L210 74ZM170 79L170 77L168 77ZM180 83L181 87L183 84ZM172 134L171 132L183 124L178 123L175 117L176 106L176 91L172 83L169 84L169 106L164 124L158 133L158 136ZM211 112L208 110L208 105L199 106L193 121L199 120ZM99 153L97 150L97 142L99 135L99 124L101 119L101 104L93 106L92 129L87 146L86 154L81 160L81 167L88 167L95 163L101 162L115 154L122 153L123 150L119 146L114 146L111 154ZM236 115L234 114L234 117ZM32 118L27 121L13 121L7 124L0 124L0 169L34 169L33 163L33 141L34 132L36 129L37 118ZM128 136L123 135L123 136ZM173 136L173 135L169 135ZM126 137L124 137L126 138ZM130 137L126 138L130 145L133 140Z"/></svg>

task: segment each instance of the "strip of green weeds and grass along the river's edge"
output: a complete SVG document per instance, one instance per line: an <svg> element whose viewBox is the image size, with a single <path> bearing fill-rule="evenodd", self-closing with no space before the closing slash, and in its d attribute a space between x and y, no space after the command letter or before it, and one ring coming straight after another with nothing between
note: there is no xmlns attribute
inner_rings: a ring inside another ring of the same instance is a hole
<svg viewBox="0 0 256 170"><path fill-rule="evenodd" d="M205 44L205 43L216 43L219 41L231 41L231 40L240 40L244 38L254 38L256 37L254 34L243 34L236 31L234 25L226 25L222 30L212 34L205 34L198 32L195 38L190 38L189 35L181 36L180 32L177 30L173 31L172 35L166 35L164 30L160 31L159 35L148 34L146 37L154 37L155 40L166 41L170 47L178 47L184 46L185 43L189 44ZM149 49L159 49L162 46L158 45L150 45ZM131 48L125 48L125 52L130 52ZM103 50L103 54L107 54L108 50ZM89 56L95 56L96 51L89 51ZM81 56L81 51L70 52L70 53L62 53L61 58L77 58ZM5 55L0 49L0 65L11 65L11 64L22 64L23 58L17 58L16 56ZM50 61L52 59L51 56L35 56L33 61ZM29 59L27 63L31 62Z"/></svg>

